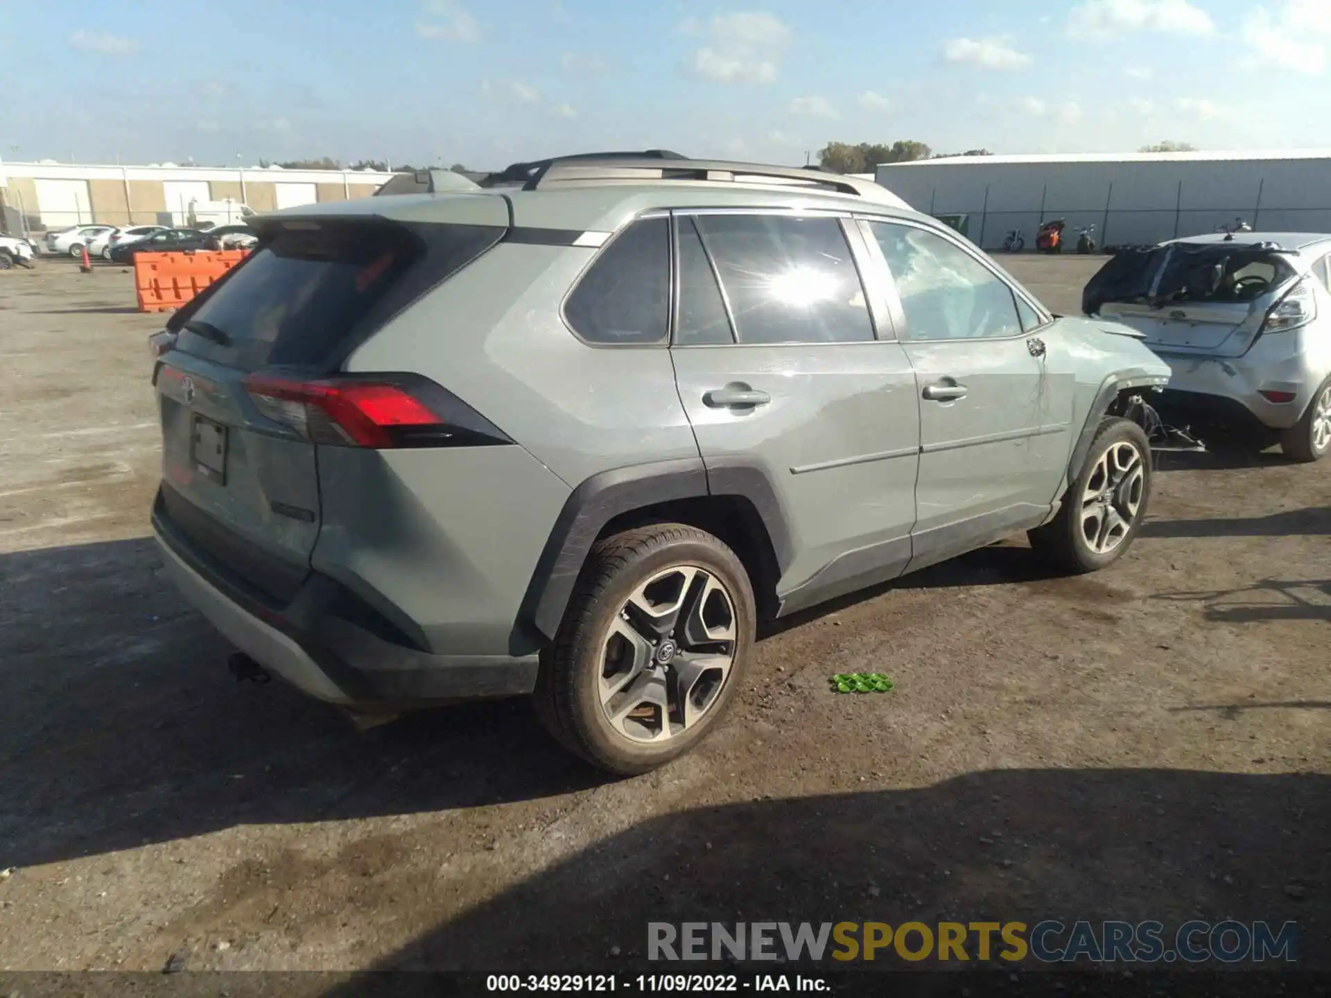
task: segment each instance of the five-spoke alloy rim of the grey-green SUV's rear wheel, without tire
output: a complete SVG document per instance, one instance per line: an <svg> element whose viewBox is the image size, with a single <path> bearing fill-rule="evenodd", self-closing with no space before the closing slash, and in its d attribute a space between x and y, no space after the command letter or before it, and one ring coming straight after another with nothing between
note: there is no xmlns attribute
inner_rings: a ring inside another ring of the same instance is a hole
<svg viewBox="0 0 1331 998"><path fill-rule="evenodd" d="M716 575L697 566L652 575L602 643L599 695L611 727L660 743L697 725L729 680L737 637L735 600Z"/></svg>

